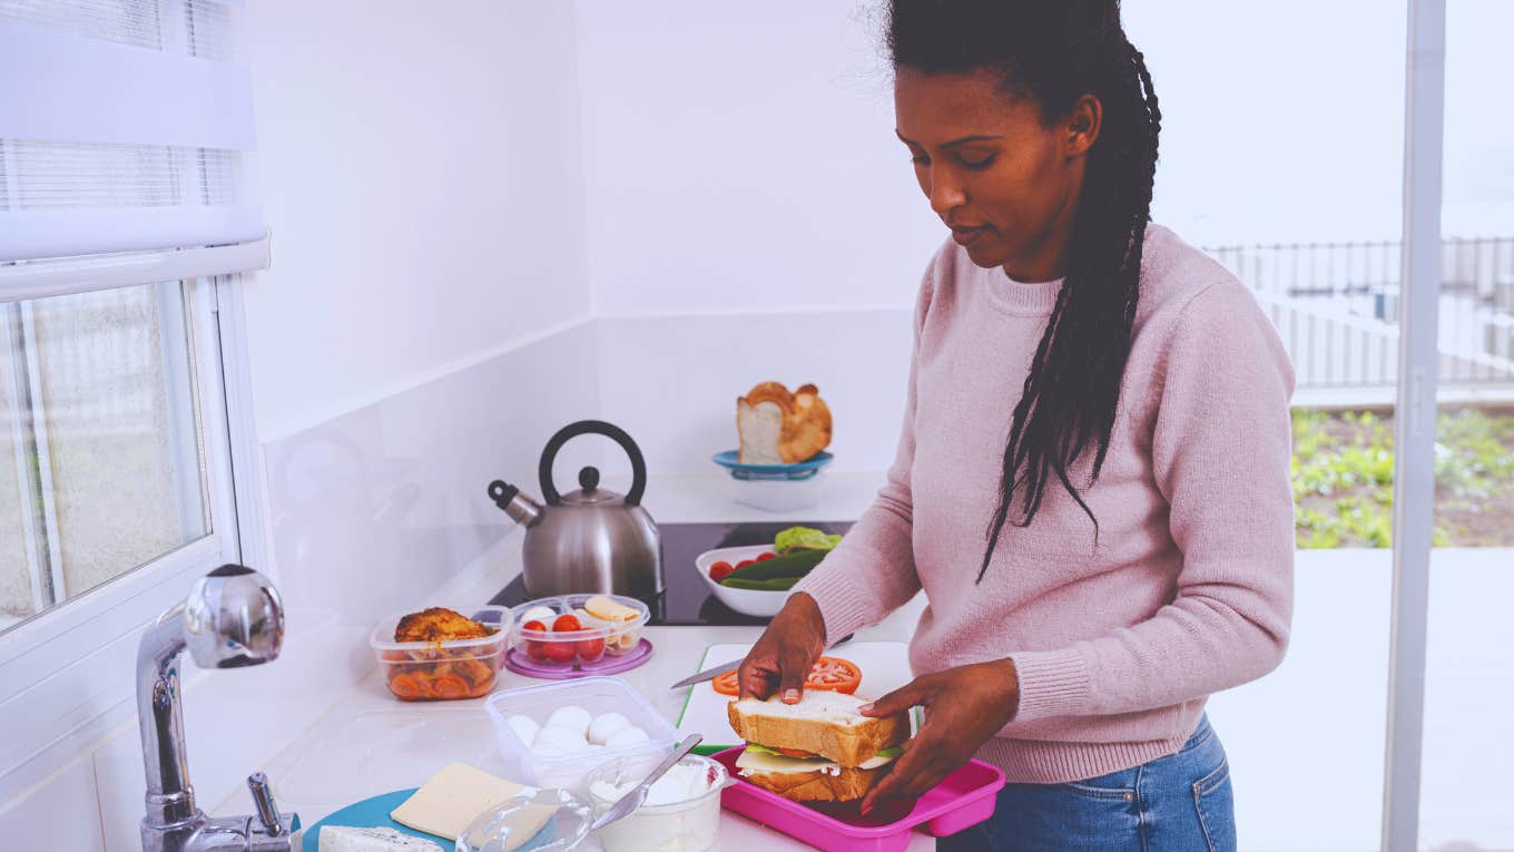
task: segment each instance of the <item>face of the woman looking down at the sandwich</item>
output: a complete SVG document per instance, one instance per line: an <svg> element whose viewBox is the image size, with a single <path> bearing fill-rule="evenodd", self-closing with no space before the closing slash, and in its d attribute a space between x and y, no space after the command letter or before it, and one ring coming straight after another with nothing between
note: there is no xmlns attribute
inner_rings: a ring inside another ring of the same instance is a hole
<svg viewBox="0 0 1514 852"><path fill-rule="evenodd" d="M921 190L972 262L1004 267L1017 280L1064 274L1098 100L1084 97L1048 127L1034 102L1005 94L989 70L927 74L904 67L893 103Z"/></svg>

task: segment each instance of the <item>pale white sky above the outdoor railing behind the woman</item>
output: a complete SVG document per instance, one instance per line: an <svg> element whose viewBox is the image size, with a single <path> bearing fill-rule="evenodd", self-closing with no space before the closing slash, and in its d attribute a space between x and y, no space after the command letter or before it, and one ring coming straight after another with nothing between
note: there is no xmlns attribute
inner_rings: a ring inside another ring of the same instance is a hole
<svg viewBox="0 0 1514 852"><path fill-rule="evenodd" d="M1126 0L1163 109L1154 217L1190 241L1397 240L1403 0ZM1514 236L1511 0L1449 0L1443 230Z"/></svg>

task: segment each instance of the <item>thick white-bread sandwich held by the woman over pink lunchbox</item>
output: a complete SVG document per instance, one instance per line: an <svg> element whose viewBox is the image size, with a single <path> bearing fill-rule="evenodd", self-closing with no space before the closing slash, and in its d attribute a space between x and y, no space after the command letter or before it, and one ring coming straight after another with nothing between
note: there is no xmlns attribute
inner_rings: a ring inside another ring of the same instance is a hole
<svg viewBox="0 0 1514 852"><path fill-rule="evenodd" d="M863 716L857 713L863 703L827 690L804 690L798 703L777 696L733 700L731 729L746 740L736 760L739 775L795 802L861 799L910 738L908 716Z"/></svg>

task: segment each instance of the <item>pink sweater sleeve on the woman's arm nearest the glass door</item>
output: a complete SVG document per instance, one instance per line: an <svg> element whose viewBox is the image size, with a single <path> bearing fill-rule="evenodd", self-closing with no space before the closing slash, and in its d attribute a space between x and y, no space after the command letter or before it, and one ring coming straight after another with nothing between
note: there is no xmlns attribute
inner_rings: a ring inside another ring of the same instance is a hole
<svg viewBox="0 0 1514 852"><path fill-rule="evenodd" d="M1235 280L1173 323L1158 368L1152 470L1182 555L1176 594L1146 622L1010 656L1017 722L1199 699L1273 670L1293 614L1293 367Z"/></svg>

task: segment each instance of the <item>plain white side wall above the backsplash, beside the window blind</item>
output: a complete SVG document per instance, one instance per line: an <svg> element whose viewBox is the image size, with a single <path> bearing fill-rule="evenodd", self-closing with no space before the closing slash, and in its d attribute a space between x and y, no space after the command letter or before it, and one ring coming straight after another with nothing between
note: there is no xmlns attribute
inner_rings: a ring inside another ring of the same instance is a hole
<svg viewBox="0 0 1514 852"><path fill-rule="evenodd" d="M589 312L572 8L248 8L273 268L260 441Z"/></svg>

